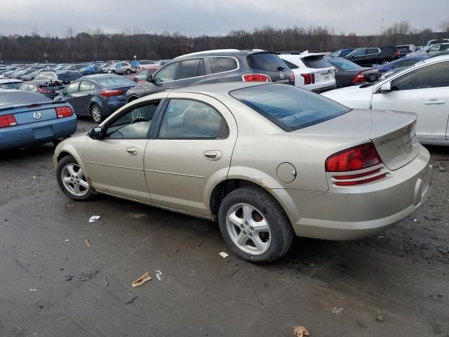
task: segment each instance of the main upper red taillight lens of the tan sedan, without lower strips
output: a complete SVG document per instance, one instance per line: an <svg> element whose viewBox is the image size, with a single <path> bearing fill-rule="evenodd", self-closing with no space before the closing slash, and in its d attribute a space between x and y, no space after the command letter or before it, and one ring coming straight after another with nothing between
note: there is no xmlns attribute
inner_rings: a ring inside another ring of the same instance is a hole
<svg viewBox="0 0 449 337"><path fill-rule="evenodd" d="M368 143L333 154L326 159L326 171L356 171L377 164L382 164L382 159L380 159L373 143Z"/></svg>

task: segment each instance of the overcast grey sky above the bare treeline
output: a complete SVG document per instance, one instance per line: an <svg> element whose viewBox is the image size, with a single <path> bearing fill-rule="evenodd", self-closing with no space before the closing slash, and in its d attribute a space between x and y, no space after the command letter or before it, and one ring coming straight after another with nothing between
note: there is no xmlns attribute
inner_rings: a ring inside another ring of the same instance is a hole
<svg viewBox="0 0 449 337"><path fill-rule="evenodd" d="M105 32L137 27L146 33L187 35L227 34L254 27L327 26L336 34L376 34L395 21L430 27L449 20L448 0L3 0L0 35L65 36L75 32Z"/></svg>

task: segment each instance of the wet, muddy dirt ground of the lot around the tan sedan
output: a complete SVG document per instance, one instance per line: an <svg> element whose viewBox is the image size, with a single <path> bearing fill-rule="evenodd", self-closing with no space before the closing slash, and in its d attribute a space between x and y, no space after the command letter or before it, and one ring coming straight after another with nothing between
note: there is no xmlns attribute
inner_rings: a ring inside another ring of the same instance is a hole
<svg viewBox="0 0 449 337"><path fill-rule="evenodd" d="M92 126L79 120L79 132ZM206 220L105 196L70 201L53 145L3 152L0 336L293 336L295 325L311 336L449 336L449 148L429 150L431 197L412 216L356 242L297 238L266 266L218 255L229 251ZM132 288L146 271L152 280Z"/></svg>

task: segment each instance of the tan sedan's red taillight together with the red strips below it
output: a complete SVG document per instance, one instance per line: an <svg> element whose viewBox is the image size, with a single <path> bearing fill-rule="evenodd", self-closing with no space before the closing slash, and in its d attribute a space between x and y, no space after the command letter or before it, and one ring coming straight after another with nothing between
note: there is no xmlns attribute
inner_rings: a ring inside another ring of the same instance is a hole
<svg viewBox="0 0 449 337"><path fill-rule="evenodd" d="M382 164L373 143L351 147L348 150L337 152L326 159L327 172L348 172L368 169L372 166ZM370 183L385 178L387 173L382 168L354 174L333 176L334 184L337 186L352 186ZM366 177L366 178L365 178Z"/></svg>

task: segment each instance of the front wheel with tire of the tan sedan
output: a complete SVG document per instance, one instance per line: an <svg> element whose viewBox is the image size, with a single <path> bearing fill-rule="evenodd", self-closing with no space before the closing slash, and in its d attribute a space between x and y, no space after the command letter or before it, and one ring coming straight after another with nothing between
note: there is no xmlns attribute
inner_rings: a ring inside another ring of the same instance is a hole
<svg viewBox="0 0 449 337"><path fill-rule="evenodd" d="M74 157L66 156L58 162L56 180L67 197L77 201L92 199L95 192L89 186L81 166Z"/></svg>

